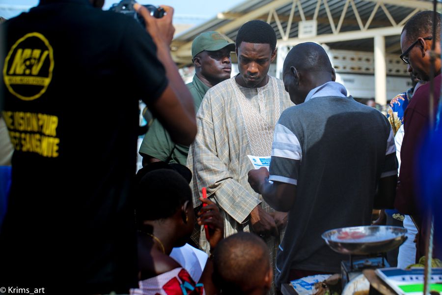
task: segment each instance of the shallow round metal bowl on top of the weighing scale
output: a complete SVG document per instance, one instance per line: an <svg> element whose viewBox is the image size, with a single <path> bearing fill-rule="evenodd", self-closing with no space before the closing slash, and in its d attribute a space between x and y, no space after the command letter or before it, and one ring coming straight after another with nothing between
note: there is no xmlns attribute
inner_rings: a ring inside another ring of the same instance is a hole
<svg viewBox="0 0 442 295"><path fill-rule="evenodd" d="M399 247L407 239L406 233L396 226L357 226L327 231L322 238L338 253L371 255Z"/></svg>

